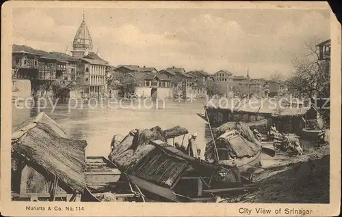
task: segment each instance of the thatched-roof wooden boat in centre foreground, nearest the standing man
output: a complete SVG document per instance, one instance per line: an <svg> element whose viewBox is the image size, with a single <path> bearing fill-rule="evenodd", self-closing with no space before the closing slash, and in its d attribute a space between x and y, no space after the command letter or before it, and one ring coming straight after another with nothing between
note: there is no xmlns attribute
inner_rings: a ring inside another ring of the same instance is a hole
<svg viewBox="0 0 342 217"><path fill-rule="evenodd" d="M256 188L239 171L184 154L167 143L159 127L132 130L108 158L148 199L157 201L215 201L215 195ZM251 184L249 182L249 184Z"/></svg>

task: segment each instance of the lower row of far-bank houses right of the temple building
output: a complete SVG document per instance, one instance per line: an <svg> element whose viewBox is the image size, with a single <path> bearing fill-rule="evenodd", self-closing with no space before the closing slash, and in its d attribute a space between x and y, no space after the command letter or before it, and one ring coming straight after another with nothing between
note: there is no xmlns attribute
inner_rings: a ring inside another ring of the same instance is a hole
<svg viewBox="0 0 342 217"><path fill-rule="evenodd" d="M251 79L247 76L234 76L228 70L219 70L214 74L204 70L186 72L184 68L170 67L165 70L140 67L136 65L121 65L112 68L111 74L127 75L137 78L140 85L136 88L138 97L149 97L157 89L158 98L169 98L184 95L205 98L207 87L215 83L218 93L222 96L233 97L233 86L239 85L248 96L272 97L287 93L287 86L282 81L270 81L263 78Z"/></svg>

